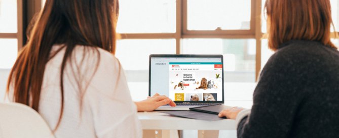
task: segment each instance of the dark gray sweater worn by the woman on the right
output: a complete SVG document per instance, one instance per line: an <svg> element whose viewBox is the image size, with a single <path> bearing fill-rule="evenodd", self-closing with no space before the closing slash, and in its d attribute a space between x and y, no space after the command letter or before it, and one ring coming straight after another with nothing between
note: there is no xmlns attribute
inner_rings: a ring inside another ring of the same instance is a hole
<svg viewBox="0 0 339 138"><path fill-rule="evenodd" d="M263 67L238 137L339 137L339 52L283 44Z"/></svg>

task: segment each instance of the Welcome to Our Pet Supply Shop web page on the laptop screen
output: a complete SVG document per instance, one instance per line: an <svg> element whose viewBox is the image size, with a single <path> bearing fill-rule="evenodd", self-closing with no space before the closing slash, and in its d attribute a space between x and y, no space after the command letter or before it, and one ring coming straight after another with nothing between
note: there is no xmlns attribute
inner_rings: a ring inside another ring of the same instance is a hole
<svg viewBox="0 0 339 138"><path fill-rule="evenodd" d="M221 62L170 62L169 97L175 101L221 101Z"/></svg>

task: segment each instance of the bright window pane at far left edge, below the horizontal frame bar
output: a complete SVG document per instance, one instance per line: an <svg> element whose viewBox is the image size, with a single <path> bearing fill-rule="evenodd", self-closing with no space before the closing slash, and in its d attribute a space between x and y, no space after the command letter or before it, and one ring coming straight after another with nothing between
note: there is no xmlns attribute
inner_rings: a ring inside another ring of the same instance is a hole
<svg viewBox="0 0 339 138"><path fill-rule="evenodd" d="M0 68L12 68L18 55L17 39L0 39Z"/></svg>

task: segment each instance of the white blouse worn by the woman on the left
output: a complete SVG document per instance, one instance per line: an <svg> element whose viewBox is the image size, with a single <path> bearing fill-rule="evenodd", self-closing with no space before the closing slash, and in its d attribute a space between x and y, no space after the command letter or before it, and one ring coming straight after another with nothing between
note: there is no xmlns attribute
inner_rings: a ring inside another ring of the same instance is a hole
<svg viewBox="0 0 339 138"><path fill-rule="evenodd" d="M61 46L54 46L53 54ZM61 109L63 48L46 65L39 113L53 130ZM137 109L119 60L100 48L77 46L64 70L64 111L56 137L142 137Z"/></svg>

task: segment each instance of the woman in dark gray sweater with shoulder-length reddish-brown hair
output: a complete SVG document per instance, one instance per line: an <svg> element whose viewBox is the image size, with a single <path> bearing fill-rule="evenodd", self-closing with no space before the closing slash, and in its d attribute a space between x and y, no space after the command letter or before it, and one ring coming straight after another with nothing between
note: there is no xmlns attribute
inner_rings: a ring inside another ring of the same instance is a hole
<svg viewBox="0 0 339 138"><path fill-rule="evenodd" d="M338 137L339 52L330 41L329 0L267 0L269 48L251 110L236 119L238 137Z"/></svg>

